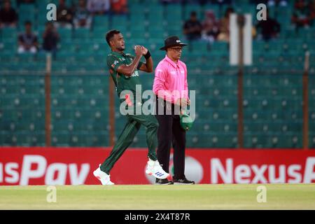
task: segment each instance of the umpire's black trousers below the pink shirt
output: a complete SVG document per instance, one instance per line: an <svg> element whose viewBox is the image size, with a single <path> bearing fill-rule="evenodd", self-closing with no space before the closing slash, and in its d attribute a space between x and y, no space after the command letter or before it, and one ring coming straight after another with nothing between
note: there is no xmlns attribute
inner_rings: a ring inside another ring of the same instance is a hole
<svg viewBox="0 0 315 224"><path fill-rule="evenodd" d="M186 131L181 128L179 114L174 113L174 104L165 102L165 100L158 100L155 104L156 115L158 120L158 161L162 165L165 172L169 173L169 155L171 151L171 144L174 148L174 176L173 179L185 178L185 148L186 148ZM162 108L161 108L162 107ZM163 115L159 115L158 111L163 111ZM176 107L175 107L176 108ZM168 111L168 113L167 113ZM169 113L172 113L168 115Z"/></svg>

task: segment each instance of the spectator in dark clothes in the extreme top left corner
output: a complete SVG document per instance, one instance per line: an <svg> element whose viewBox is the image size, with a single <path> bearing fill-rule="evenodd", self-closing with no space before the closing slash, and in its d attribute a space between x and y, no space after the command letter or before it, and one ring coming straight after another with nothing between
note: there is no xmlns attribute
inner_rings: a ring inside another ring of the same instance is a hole
<svg viewBox="0 0 315 224"><path fill-rule="evenodd" d="M0 28L16 27L18 22L18 14L11 7L9 0L3 2L3 8L0 10Z"/></svg>

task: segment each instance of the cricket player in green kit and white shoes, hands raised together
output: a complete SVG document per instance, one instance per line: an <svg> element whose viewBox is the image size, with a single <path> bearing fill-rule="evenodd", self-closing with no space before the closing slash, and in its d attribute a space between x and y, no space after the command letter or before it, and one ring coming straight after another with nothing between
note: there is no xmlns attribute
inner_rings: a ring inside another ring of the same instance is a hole
<svg viewBox="0 0 315 224"><path fill-rule="evenodd" d="M152 72L153 59L148 49L144 46L136 45L134 47L135 57L126 54L125 40L120 31L113 29L106 34L106 41L111 48L111 53L107 56L107 66L113 81L116 85L120 103L127 103L128 106L136 108L136 85L141 85L140 76L137 70ZM146 63L140 62L141 57L144 56ZM126 90L132 94L125 94ZM140 97L141 99L141 97ZM133 103L135 102L135 103ZM156 157L156 148L158 147L158 120L152 114L144 115L138 113L128 113L127 123L123 132L118 137L118 140L113 146L113 150L108 158L97 168L93 174L101 181L102 185L113 185L109 173L113 165L117 162L125 150L132 144L134 137L139 131L141 125L146 127L146 143L148 144L148 165L146 174L153 175L155 178L167 179L169 174L165 172Z"/></svg>

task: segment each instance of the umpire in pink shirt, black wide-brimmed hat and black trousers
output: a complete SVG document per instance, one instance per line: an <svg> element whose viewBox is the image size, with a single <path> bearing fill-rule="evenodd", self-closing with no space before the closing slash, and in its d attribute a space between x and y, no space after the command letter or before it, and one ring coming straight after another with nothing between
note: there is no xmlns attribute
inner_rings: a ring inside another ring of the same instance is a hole
<svg viewBox="0 0 315 224"><path fill-rule="evenodd" d="M171 144L174 148L173 181L156 179L157 184L194 184L188 181L185 172L186 131L180 123L179 113L190 104L188 98L187 68L181 62L181 52L186 43L178 36L165 39L166 56L155 69L153 92L156 95L156 118L158 119L158 161L165 172L169 173ZM162 113L161 113L162 112Z"/></svg>

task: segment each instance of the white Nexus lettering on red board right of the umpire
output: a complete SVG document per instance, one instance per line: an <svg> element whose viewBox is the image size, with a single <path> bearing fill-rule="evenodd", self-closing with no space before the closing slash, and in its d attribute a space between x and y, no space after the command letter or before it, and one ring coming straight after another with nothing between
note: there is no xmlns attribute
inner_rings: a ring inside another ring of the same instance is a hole
<svg viewBox="0 0 315 224"><path fill-rule="evenodd" d="M300 164L234 164L232 158L211 159L211 183L312 183L315 181L315 157L306 159L304 172Z"/></svg>

